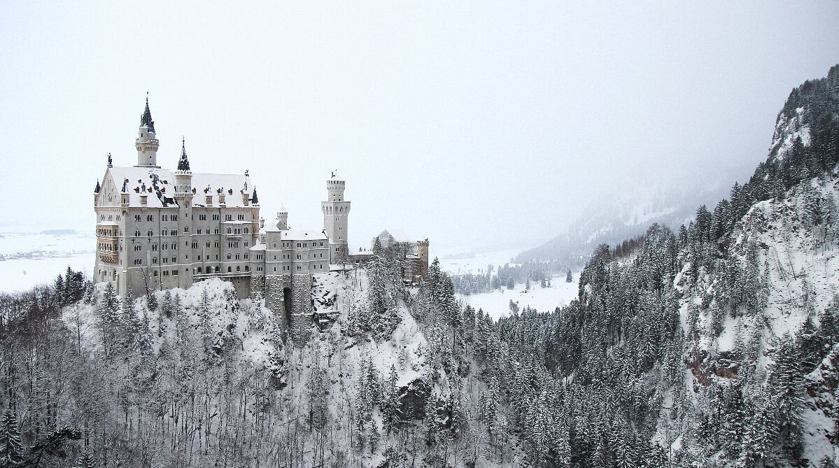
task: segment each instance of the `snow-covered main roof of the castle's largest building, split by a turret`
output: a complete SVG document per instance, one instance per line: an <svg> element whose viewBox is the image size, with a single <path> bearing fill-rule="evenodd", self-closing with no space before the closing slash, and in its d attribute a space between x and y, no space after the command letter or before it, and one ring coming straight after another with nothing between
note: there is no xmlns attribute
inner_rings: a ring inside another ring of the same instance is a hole
<svg viewBox="0 0 839 468"><path fill-rule="evenodd" d="M175 174L169 169L148 167L112 167L107 169L120 192L128 193L129 206L161 208L175 206ZM192 205L207 206L211 197L212 206L220 205L220 195L225 195L225 206L245 206L242 194L253 195L249 178L241 174L192 174ZM140 204L140 195L148 195L145 205Z"/></svg>

